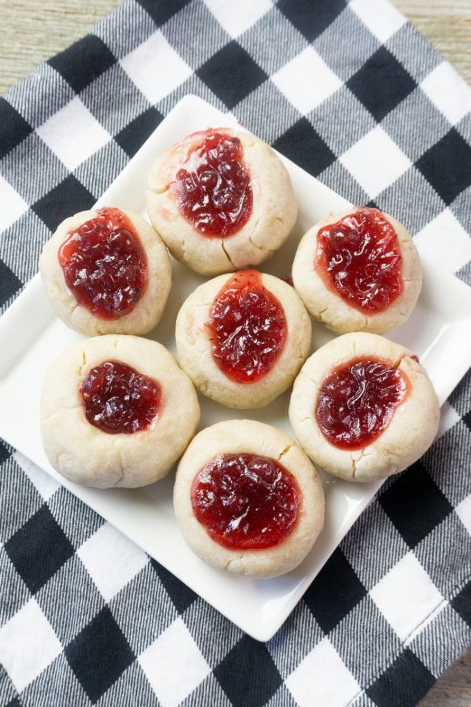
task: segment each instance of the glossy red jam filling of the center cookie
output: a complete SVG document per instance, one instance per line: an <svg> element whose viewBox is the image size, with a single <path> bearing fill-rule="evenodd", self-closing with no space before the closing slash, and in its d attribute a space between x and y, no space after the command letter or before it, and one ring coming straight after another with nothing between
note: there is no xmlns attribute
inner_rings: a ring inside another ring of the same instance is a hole
<svg viewBox="0 0 471 707"><path fill-rule="evenodd" d="M286 317L257 270L241 270L209 310L211 351L221 371L237 383L269 373L286 341Z"/></svg>

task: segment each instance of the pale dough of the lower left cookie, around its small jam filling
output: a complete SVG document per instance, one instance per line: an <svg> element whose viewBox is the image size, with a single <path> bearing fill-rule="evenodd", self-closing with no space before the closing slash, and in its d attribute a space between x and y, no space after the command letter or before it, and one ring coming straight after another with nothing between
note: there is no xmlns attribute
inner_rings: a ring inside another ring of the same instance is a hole
<svg viewBox="0 0 471 707"><path fill-rule="evenodd" d="M104 361L125 363L160 385L158 416L148 429L109 434L86 419L79 389ZM190 378L156 341L117 334L82 339L63 351L45 375L42 443L54 469L77 484L100 489L152 484L168 474L198 423Z"/></svg>

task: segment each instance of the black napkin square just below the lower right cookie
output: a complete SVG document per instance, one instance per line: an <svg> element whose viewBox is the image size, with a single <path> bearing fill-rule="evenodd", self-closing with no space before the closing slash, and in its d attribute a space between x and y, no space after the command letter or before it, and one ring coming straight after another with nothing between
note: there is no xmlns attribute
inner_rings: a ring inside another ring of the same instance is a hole
<svg viewBox="0 0 471 707"><path fill-rule="evenodd" d="M392 481L379 502L410 548L416 547L453 510L421 462Z"/></svg>

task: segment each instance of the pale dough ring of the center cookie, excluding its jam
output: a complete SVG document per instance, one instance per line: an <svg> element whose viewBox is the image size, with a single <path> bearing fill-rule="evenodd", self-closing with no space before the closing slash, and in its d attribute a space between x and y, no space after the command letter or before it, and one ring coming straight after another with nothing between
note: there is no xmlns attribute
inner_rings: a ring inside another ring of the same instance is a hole
<svg viewBox="0 0 471 707"><path fill-rule="evenodd" d="M226 407L265 407L291 386L310 351L310 318L296 291L277 277L265 273L260 276L262 285L279 300L287 325L279 358L260 380L250 383L231 380L211 353L207 327L211 306L233 275L220 275L200 285L178 312L175 338L180 366L203 395Z"/></svg>

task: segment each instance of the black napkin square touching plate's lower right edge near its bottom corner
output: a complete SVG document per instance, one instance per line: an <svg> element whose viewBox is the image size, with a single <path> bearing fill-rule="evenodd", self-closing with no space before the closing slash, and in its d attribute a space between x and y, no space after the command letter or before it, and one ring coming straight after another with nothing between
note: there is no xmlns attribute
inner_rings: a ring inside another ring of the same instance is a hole
<svg viewBox="0 0 471 707"><path fill-rule="evenodd" d="M303 599L324 633L329 633L366 596L366 589L341 549L322 567Z"/></svg>

